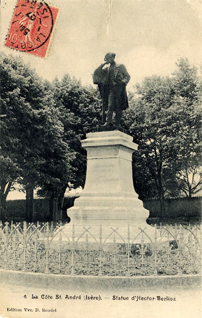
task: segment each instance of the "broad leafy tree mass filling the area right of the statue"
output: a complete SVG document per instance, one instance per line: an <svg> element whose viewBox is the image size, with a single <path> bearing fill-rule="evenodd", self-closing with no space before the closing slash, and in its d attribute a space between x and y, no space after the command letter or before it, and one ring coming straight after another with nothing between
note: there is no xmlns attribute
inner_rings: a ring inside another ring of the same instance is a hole
<svg viewBox="0 0 202 318"><path fill-rule="evenodd" d="M136 85L140 96L129 99L130 107L125 112L125 124L139 145L139 152L134 154L134 180L138 180L135 177L140 170L149 171L161 216L165 193L173 193L174 189L179 193L177 173L198 163L200 157L200 85L196 68L184 59L177 66L172 78L152 76Z"/></svg>

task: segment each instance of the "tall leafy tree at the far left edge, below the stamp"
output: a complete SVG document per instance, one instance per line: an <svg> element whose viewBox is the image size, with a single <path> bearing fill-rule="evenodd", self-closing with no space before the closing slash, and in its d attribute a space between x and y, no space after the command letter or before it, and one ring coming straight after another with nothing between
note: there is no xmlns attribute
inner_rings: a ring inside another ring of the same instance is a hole
<svg viewBox="0 0 202 318"><path fill-rule="evenodd" d="M0 201L1 213L5 212L6 196L12 182L22 173L20 162L26 151L21 143L23 124L29 127L31 107L23 95L28 95L31 74L20 59L1 54L1 156ZM30 85L31 86L31 85ZM27 88L27 89L26 89ZM23 91L23 94L22 94ZM24 118L24 121L22 121ZM24 128L25 128L24 127Z"/></svg>

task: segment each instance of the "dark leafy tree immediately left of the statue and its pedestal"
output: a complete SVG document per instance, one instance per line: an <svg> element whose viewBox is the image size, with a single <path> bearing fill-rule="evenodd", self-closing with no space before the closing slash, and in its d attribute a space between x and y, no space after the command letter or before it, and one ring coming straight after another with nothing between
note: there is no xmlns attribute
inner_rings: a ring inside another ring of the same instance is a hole
<svg viewBox="0 0 202 318"><path fill-rule="evenodd" d="M59 119L64 126L62 140L68 144L75 157L70 160L70 170L66 171L63 163L60 163L57 172L60 176L59 182L52 182L50 178L43 183L39 193L57 199L59 213L62 215L66 189L84 186L87 159L86 150L81 147L80 140L84 139L90 128L95 127L99 118L101 119L101 100L97 90L93 91L91 86L82 86L80 81L70 78L68 74L61 81L55 79L50 86L55 109L59 112Z"/></svg>

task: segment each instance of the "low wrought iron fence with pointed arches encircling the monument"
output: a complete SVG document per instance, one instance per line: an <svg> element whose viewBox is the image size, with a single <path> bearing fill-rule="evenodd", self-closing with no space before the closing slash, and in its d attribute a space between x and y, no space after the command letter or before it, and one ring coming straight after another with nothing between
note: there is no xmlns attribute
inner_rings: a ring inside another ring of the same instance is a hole
<svg viewBox="0 0 202 318"><path fill-rule="evenodd" d="M154 237L150 237L145 228L133 233L128 226L127 239L121 236L118 227L111 227L105 239L102 226L97 236L99 239L90 232L90 227L84 227L83 233L75 238L76 227L70 227L72 231L68 237L61 224L54 227L53 223L35 225L23 222L22 225L6 222L3 225L0 222L0 267L26 272L99 276L201 272L202 226L157 228L155 225ZM137 237L140 243L134 244ZM150 243L145 243L145 237ZM110 244L109 238L113 238Z"/></svg>

